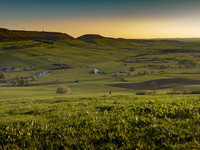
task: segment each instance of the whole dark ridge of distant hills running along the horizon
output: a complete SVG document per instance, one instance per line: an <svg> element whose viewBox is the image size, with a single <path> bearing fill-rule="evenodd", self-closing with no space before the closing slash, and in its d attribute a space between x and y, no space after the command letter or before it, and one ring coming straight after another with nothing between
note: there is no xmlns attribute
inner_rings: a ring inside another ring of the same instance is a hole
<svg viewBox="0 0 200 150"><path fill-rule="evenodd" d="M200 42L200 38L160 38L160 39L124 39L104 37L98 34L85 34L78 38L74 38L66 33L60 32L43 32L43 31L23 31L23 30L8 30L0 28L1 41L21 41L33 40L39 42L62 41L72 46L95 44L95 45L112 45L125 46L135 44L149 44L155 42L162 43L179 43L179 42Z"/></svg>

